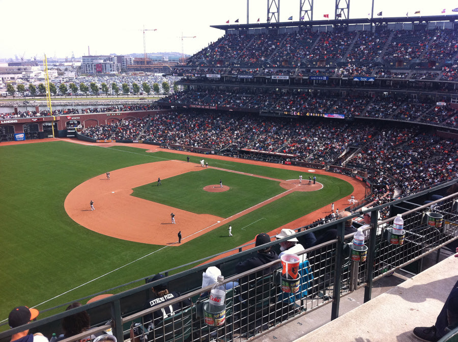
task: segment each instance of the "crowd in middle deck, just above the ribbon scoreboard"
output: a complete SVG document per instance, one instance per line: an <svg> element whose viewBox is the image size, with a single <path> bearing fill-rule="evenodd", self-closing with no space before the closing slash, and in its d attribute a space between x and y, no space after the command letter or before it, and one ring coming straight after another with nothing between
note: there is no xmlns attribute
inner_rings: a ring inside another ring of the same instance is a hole
<svg viewBox="0 0 458 342"><path fill-rule="evenodd" d="M422 122L456 127L458 110L449 106L433 109L434 103L412 102L407 96L396 98L340 95L336 92L320 93L308 91L264 91L256 94L232 94L220 91L181 92L164 98L160 103L182 105L208 105L244 108L258 111L331 113L346 116ZM455 119L454 119L455 118Z"/></svg>

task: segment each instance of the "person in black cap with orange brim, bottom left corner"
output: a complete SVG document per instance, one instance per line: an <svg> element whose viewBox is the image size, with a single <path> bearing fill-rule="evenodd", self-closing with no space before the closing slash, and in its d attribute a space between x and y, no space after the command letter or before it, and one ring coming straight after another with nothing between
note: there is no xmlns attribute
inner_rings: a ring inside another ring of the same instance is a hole
<svg viewBox="0 0 458 342"><path fill-rule="evenodd" d="M15 307L8 316L8 325L11 329L20 327L35 320L38 317L37 309L30 309L27 306ZM11 336L11 342L49 342L42 333L29 334L29 329L17 332Z"/></svg>

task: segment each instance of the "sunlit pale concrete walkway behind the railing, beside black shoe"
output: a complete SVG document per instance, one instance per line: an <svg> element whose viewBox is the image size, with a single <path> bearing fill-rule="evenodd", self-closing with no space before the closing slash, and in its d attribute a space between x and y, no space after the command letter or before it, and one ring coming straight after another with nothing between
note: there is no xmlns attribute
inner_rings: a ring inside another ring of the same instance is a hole
<svg viewBox="0 0 458 342"><path fill-rule="evenodd" d="M457 278L458 260L451 255L296 342L418 341L412 330L435 323Z"/></svg>

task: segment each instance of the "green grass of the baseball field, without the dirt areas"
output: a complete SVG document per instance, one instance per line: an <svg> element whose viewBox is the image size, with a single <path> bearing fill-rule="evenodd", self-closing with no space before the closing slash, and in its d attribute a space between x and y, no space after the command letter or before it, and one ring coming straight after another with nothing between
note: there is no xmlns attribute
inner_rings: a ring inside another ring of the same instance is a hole
<svg viewBox="0 0 458 342"><path fill-rule="evenodd" d="M191 261L189 255L197 260L237 247L259 232L272 231L353 190L345 181L319 176L317 180L325 185L322 190L293 192L232 221L233 239L226 238L226 226L221 226L190 243L172 248L95 233L75 223L65 212L65 197L78 184L107 170L167 159L184 161L186 155L146 153L119 146L83 146L64 141L0 145L0 211L3 214L0 221L3 251L0 321L17 305L35 306L45 302L38 306L43 309L185 264ZM191 162L198 163L198 160L191 157ZM228 217L284 189L276 181L228 173L224 169L283 180L299 176L297 171L242 164L236 160L205 160L221 169L209 168L164 180L161 191L152 186L139 187L135 195L180 209ZM308 178L308 174L302 175ZM202 188L218 184L220 178L231 190L190 191L191 185L194 189ZM142 258L147 254L150 255ZM138 261L123 267L135 260ZM66 294L60 296L63 293Z"/></svg>

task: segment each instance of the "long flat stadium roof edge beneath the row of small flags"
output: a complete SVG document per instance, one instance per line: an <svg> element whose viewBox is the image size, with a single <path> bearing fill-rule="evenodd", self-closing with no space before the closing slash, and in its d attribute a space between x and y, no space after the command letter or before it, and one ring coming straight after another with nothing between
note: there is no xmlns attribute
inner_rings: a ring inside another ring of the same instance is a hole
<svg viewBox="0 0 458 342"><path fill-rule="evenodd" d="M288 22L270 22L270 23L252 23L252 24L225 24L211 25L214 29L219 30L248 30L261 28L278 28L278 27L297 27L297 26L322 26L322 25L354 25L354 24L388 24L397 22L427 23L432 21L457 21L458 15L431 15L431 16L413 16L413 17L391 17L391 18L360 18L360 19L325 19L313 21L288 21Z"/></svg>

